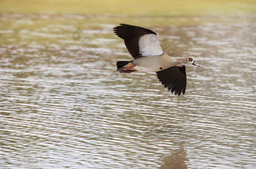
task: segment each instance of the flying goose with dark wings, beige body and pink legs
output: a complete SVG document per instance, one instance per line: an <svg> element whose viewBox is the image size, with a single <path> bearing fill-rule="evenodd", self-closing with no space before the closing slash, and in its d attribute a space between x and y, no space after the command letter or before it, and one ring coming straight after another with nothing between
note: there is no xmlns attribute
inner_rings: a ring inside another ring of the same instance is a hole
<svg viewBox="0 0 256 169"><path fill-rule="evenodd" d="M115 27L114 33L122 38L132 61L118 61L117 71L132 73L134 71L156 72L159 81L171 93L185 94L186 68L184 64L199 66L193 58L172 58L162 51L158 34L152 30L120 24Z"/></svg>

